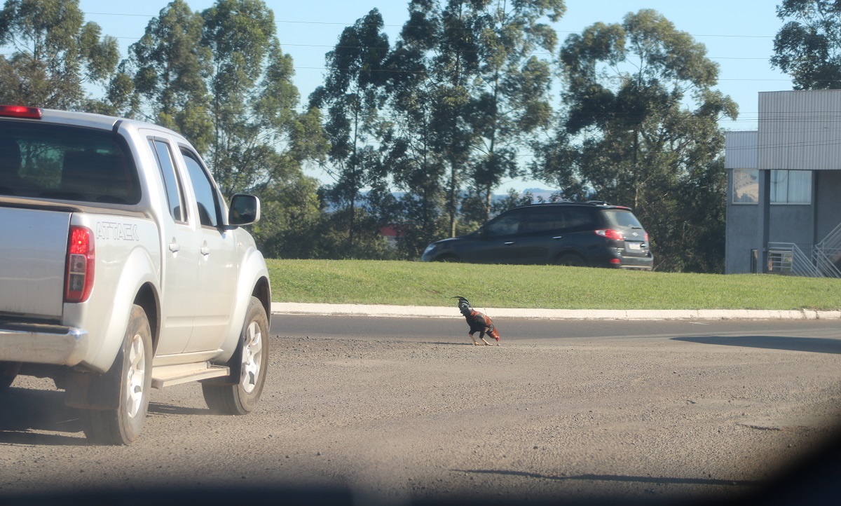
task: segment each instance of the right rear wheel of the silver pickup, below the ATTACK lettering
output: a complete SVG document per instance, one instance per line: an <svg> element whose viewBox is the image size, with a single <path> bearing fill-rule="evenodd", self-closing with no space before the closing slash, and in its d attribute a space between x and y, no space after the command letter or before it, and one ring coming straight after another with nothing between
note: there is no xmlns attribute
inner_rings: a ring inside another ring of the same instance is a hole
<svg viewBox="0 0 841 506"><path fill-rule="evenodd" d="M104 445L130 445L143 430L152 382L152 333L143 308L131 308L129 327L114 365L91 385L85 435ZM116 406L115 408L113 406Z"/></svg>

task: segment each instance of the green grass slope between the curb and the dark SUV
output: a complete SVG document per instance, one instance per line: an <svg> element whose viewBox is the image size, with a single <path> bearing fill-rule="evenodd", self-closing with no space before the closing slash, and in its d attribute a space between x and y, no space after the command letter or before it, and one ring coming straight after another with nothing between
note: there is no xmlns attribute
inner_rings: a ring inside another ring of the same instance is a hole
<svg viewBox="0 0 841 506"><path fill-rule="evenodd" d="M841 280L564 266L267 260L272 300L485 308L841 309Z"/></svg>

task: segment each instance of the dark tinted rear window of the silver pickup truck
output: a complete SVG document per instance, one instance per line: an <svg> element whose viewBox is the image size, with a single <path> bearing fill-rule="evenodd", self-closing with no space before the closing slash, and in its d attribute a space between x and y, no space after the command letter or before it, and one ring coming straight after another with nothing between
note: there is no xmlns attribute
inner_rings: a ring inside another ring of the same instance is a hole
<svg viewBox="0 0 841 506"><path fill-rule="evenodd" d="M140 185L117 134L0 121L0 195L134 204L140 201Z"/></svg>

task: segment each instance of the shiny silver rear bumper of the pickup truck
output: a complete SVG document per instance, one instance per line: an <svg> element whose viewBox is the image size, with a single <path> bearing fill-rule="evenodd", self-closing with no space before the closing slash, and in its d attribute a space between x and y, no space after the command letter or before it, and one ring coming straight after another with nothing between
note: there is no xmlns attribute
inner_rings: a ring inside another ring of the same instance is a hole
<svg viewBox="0 0 841 506"><path fill-rule="evenodd" d="M87 354L87 330L0 323L0 361L75 366Z"/></svg>

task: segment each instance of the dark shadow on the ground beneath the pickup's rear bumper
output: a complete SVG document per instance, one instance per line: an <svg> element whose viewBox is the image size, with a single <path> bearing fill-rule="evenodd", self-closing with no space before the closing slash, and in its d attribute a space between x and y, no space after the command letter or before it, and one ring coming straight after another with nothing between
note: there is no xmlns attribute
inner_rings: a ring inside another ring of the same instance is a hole
<svg viewBox="0 0 841 506"><path fill-rule="evenodd" d="M11 387L0 395L0 444L87 445L82 413L64 405L64 393ZM49 430L73 435L43 434Z"/></svg>

